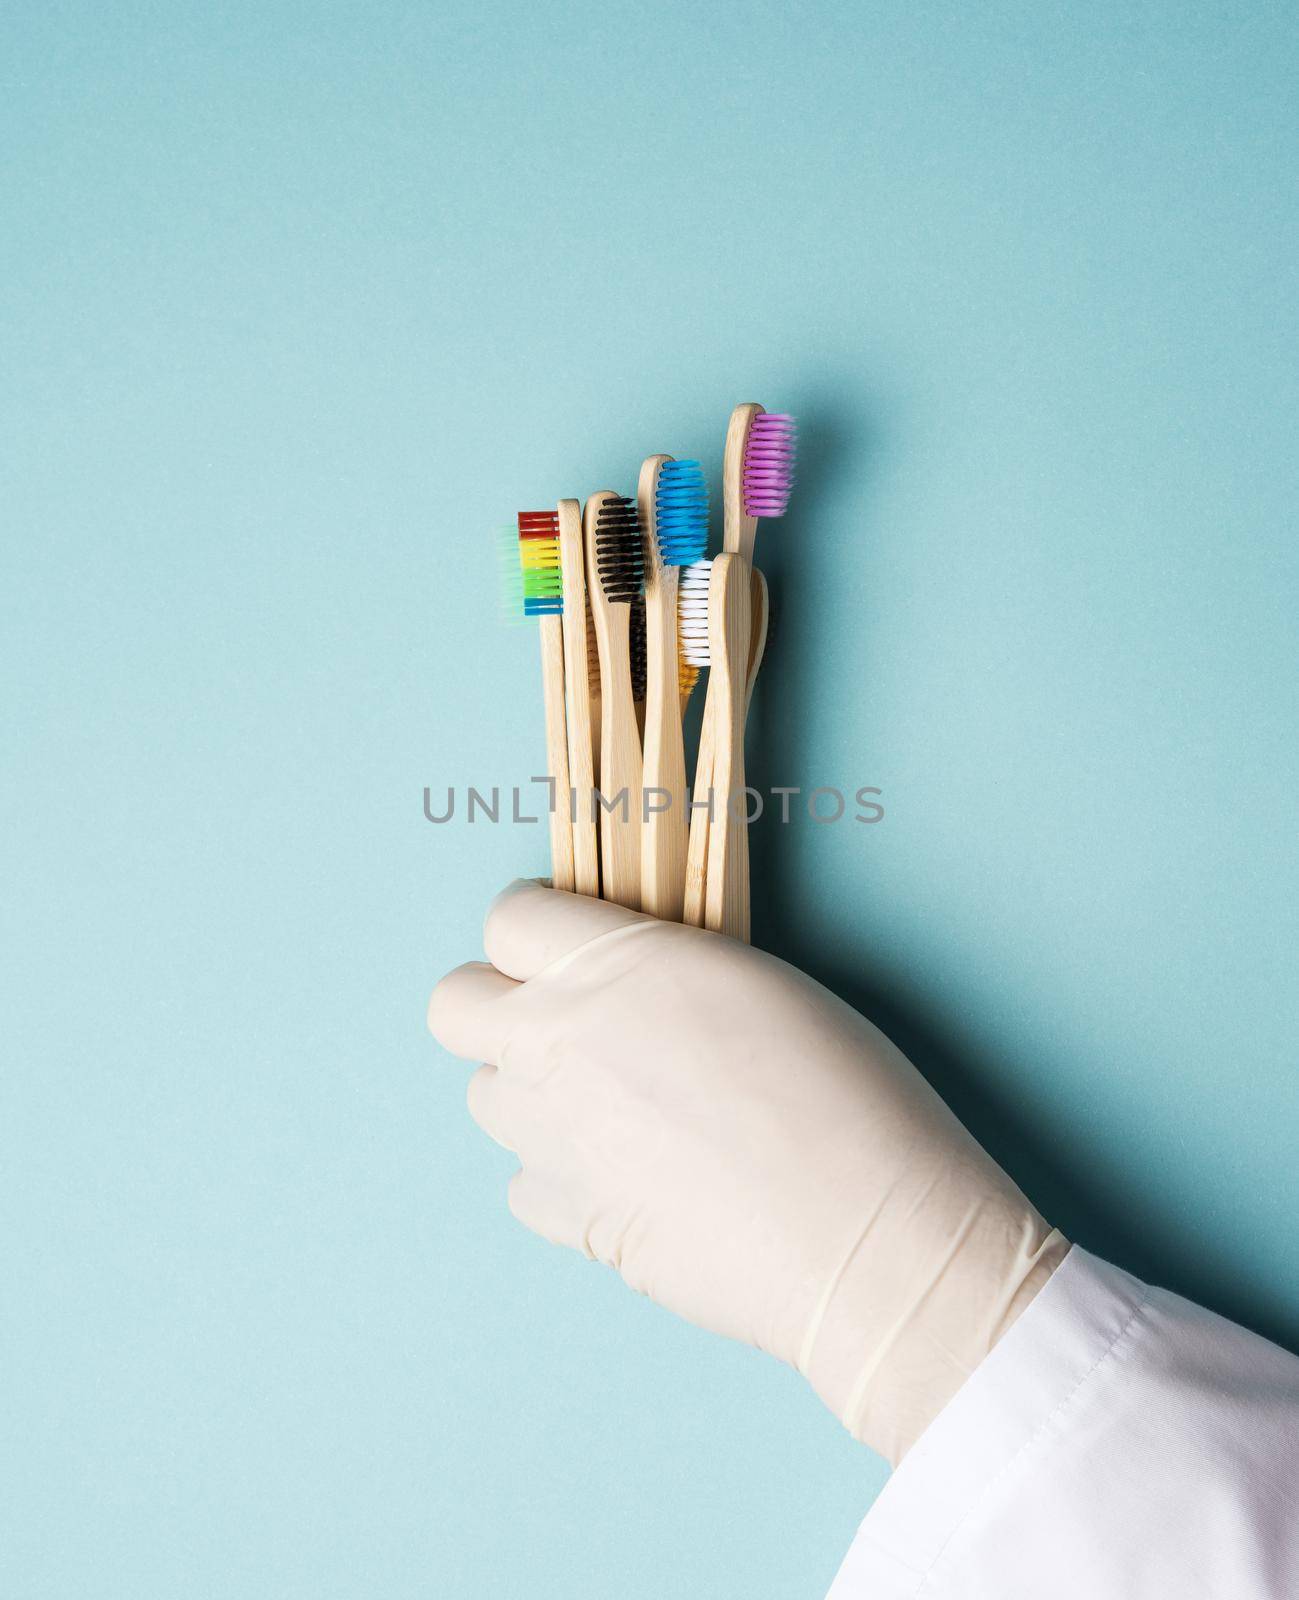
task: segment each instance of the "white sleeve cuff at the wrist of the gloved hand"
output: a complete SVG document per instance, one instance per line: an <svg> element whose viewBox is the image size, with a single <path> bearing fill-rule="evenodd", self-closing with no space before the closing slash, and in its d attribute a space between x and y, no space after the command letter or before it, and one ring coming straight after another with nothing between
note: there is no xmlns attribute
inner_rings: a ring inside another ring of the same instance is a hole
<svg viewBox="0 0 1299 1600"><path fill-rule="evenodd" d="M1077 1245L827 1600L1299 1600L1299 1360Z"/></svg>

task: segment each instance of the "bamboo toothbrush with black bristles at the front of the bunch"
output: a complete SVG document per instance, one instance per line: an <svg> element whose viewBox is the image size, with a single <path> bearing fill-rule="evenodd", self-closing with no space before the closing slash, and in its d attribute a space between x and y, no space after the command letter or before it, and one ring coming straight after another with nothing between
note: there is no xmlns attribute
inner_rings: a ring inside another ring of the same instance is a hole
<svg viewBox="0 0 1299 1600"><path fill-rule="evenodd" d="M640 910L642 757L632 698L630 611L645 578L635 502L602 490L586 504L590 613L600 653L600 880L605 899Z"/></svg>

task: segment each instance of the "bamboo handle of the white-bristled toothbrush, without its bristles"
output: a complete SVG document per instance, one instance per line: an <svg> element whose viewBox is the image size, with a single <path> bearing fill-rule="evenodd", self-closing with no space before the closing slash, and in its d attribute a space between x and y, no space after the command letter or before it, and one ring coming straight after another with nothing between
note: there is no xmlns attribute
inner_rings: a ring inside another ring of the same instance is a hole
<svg viewBox="0 0 1299 1600"><path fill-rule="evenodd" d="M749 939L749 822L744 794L744 712L749 688L749 563L718 555L709 584L709 699L713 709L713 787L704 926Z"/></svg>

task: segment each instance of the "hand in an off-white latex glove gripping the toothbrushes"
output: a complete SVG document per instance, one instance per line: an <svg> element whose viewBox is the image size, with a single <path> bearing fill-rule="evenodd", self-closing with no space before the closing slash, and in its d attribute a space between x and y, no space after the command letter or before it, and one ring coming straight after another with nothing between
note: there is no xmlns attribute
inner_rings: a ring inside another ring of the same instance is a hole
<svg viewBox="0 0 1299 1600"><path fill-rule="evenodd" d="M789 1362L896 1462L1069 1245L865 1018L785 962L539 883L429 1027L510 1210Z"/></svg>

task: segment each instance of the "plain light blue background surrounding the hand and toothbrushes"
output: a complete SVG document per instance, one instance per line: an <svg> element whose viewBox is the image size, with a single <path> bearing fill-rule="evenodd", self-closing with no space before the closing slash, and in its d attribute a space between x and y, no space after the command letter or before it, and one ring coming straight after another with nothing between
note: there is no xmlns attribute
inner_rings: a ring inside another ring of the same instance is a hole
<svg viewBox="0 0 1299 1600"><path fill-rule="evenodd" d="M491 530L800 416L758 938L1299 1342L1299 22L19 3L0 1592L819 1597L883 1482L547 1248L424 1035L542 829ZM797 1062L790 1062L797 1070Z"/></svg>

